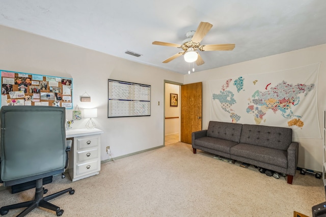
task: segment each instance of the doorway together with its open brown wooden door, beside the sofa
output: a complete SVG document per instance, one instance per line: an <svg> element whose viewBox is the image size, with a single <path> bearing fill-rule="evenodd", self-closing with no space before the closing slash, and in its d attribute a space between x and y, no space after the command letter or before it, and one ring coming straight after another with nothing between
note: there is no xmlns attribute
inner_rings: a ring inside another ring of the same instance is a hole
<svg viewBox="0 0 326 217"><path fill-rule="evenodd" d="M191 144L192 132L202 130L202 82L183 85L165 81L164 90L164 144Z"/></svg>

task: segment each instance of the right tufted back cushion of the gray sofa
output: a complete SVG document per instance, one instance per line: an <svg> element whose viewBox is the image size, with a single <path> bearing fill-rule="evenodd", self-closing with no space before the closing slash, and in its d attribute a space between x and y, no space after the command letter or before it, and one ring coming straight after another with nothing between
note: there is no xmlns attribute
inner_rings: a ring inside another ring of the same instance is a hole
<svg viewBox="0 0 326 217"><path fill-rule="evenodd" d="M287 150L292 142L292 129L260 125L243 125L240 143Z"/></svg>

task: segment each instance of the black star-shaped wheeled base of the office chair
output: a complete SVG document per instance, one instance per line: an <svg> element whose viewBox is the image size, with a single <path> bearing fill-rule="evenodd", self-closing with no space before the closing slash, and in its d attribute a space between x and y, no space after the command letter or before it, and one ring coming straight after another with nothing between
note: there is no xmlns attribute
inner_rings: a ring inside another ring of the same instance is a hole
<svg viewBox="0 0 326 217"><path fill-rule="evenodd" d="M23 208L26 207L26 209L24 209L20 214L17 215L17 217L19 216L25 216L26 214L28 214L29 212L31 212L33 209L35 209L36 207L44 207L46 209L50 209L53 211L56 211L57 216L61 216L63 214L63 209L60 209L59 206L56 206L52 203L47 202L48 200L51 200L53 198L56 198L60 195L63 195L67 192L69 192L69 194L74 194L75 190L73 190L72 188L57 192L55 194L51 194L49 196L43 197L45 190L42 187L42 178L38 179L36 181L36 191L35 191L35 199L31 200L31 201L26 201L26 202L22 202L22 203L17 203L17 204L12 204L12 205L8 205L8 206L3 206L0 208L0 214L1 215L5 215L9 212L10 209L17 209L17 208Z"/></svg>

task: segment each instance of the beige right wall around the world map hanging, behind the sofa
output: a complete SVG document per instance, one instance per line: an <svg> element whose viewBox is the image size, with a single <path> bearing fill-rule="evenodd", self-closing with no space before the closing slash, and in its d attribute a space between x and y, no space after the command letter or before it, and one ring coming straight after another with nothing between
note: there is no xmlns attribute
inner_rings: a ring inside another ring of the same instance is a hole
<svg viewBox="0 0 326 217"><path fill-rule="evenodd" d="M208 81L235 77L246 74L277 72L296 67L321 63L318 76L318 115L322 129L323 110L326 109L326 44L295 50L273 56L267 56L239 64L193 73L184 76L184 83L203 82L203 129L207 129L210 119L210 92ZM317 115L317 114L316 114ZM295 138L300 143L298 166L322 171L322 139Z"/></svg>

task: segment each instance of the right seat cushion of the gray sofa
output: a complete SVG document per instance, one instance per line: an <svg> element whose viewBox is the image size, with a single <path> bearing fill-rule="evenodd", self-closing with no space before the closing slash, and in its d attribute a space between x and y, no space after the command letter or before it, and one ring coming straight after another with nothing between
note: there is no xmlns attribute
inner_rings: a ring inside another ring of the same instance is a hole
<svg viewBox="0 0 326 217"><path fill-rule="evenodd" d="M287 168L287 152L280 149L239 143L230 149L230 154Z"/></svg>

